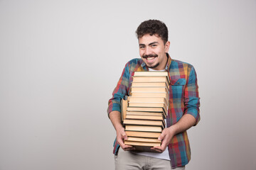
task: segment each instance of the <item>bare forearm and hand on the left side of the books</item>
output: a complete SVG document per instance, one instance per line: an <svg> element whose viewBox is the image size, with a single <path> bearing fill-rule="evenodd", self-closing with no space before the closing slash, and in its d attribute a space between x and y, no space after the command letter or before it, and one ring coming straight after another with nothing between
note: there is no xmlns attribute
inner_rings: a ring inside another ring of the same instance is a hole
<svg viewBox="0 0 256 170"><path fill-rule="evenodd" d="M124 127L121 124L121 113L119 111L110 112L110 120L117 132L117 143L123 150L134 150L135 148L130 145L124 145L124 140L127 140L127 134L124 132Z"/></svg>

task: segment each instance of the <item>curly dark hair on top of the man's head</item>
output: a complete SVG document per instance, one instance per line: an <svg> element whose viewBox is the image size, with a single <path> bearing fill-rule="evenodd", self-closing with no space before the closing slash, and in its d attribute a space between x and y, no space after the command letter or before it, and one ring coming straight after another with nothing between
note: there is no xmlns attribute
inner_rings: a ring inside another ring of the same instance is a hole
<svg viewBox="0 0 256 170"><path fill-rule="evenodd" d="M158 35L164 44L168 41L168 28L159 20L148 20L142 22L136 30L137 38L142 38L144 35Z"/></svg>

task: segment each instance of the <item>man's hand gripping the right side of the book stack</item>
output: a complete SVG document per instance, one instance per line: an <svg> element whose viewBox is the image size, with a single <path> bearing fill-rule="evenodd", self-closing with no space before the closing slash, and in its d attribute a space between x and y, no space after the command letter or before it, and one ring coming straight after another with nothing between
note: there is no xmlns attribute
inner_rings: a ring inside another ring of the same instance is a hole
<svg viewBox="0 0 256 170"><path fill-rule="evenodd" d="M160 147L151 147L152 150L156 152L164 152L166 147L169 145L171 142L171 139L174 137L175 131L171 127L165 128L162 132L161 135L159 136L158 140L161 140L161 146Z"/></svg>

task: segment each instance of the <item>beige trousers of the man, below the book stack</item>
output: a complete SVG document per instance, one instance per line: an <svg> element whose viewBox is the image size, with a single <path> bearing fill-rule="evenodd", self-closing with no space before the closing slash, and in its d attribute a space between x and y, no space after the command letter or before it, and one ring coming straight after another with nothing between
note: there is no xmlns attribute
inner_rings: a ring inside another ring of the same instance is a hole
<svg viewBox="0 0 256 170"><path fill-rule="evenodd" d="M146 157L144 155L134 154L119 148L118 154L114 155L114 164L116 170L165 170L171 169L171 162L164 159L154 157ZM175 170L185 170L185 166L178 167Z"/></svg>

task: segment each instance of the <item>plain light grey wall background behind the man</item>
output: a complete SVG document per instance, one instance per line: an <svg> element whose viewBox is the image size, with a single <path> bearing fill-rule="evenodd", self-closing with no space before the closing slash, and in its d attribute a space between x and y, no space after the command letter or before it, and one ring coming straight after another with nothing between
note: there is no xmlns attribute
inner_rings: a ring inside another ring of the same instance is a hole
<svg viewBox="0 0 256 170"><path fill-rule="evenodd" d="M255 0L0 0L1 170L114 169L107 101L149 18L198 74L187 169L256 169Z"/></svg>

